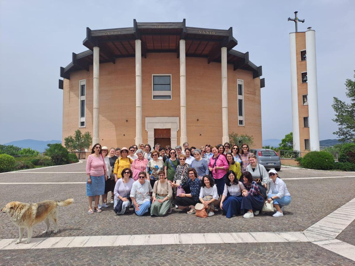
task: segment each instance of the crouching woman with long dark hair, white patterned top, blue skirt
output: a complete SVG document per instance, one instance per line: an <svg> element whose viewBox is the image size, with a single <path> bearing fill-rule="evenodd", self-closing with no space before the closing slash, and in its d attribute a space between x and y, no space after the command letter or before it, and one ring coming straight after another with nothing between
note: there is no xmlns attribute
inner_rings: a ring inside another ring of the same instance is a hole
<svg viewBox="0 0 355 266"><path fill-rule="evenodd" d="M220 208L227 218L240 214L241 193L245 189L242 182L239 182L234 171L227 172Z"/></svg>

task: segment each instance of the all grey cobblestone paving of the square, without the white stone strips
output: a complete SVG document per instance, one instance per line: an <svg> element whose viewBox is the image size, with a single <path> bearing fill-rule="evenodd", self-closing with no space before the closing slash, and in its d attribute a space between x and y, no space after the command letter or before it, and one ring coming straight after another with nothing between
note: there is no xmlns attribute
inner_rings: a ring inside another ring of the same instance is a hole
<svg viewBox="0 0 355 266"><path fill-rule="evenodd" d="M34 169L0 174L0 182L85 182L85 162L60 167ZM43 173L32 173L43 172ZM61 173L50 173L61 172ZM280 171L282 178L354 176L355 173L292 169ZM205 219L173 209L165 217L137 217L130 213L116 216L113 206L102 213L87 214L85 184L0 184L0 204L9 201L39 202L45 199L74 198L68 207L58 207L59 232L42 234L44 223L34 227L33 237L61 237L86 235L123 235L156 233L215 233L215 232L288 232L303 231L355 197L355 178L285 180L292 202L285 207L284 216L259 215L251 219L241 216L226 218L219 214ZM346 193L342 193L346 187ZM339 192L339 193L338 193ZM10 217L0 213L0 237L17 238L18 228ZM51 228L53 226L51 225ZM163 229L163 230L162 230ZM355 222L337 238L355 244ZM27 230L25 230L25 238ZM158 251L159 250L159 251ZM182 250L182 251L181 251ZM139 252L139 255L135 253ZM193 259L201 254L201 261ZM205 256L203 254L206 254ZM211 255L212 254L212 255ZM218 256L222 254L222 256ZM249 254L247 257L244 254ZM173 255L173 256L171 256ZM179 265L179 264L269 264L282 265L355 265L354 261L311 243L247 243L167 246L129 246L99 248L59 248L39 250L0 250L0 265L18 264L117 264ZM190 259L191 257L191 259ZM40 261L38 261L40 260ZM149 261L149 262L148 262Z"/></svg>

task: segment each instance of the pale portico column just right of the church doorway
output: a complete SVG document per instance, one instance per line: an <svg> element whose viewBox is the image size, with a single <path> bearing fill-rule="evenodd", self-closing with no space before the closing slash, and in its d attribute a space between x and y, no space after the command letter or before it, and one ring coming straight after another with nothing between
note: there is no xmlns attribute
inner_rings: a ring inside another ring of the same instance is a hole
<svg viewBox="0 0 355 266"><path fill-rule="evenodd" d="M180 145L187 142L186 133L186 58L185 40L180 40Z"/></svg>

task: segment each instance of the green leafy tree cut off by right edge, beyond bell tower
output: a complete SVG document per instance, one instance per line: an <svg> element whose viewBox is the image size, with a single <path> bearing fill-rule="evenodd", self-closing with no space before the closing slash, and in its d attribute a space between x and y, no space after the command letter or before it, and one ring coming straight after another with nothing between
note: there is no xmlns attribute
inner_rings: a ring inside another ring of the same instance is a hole
<svg viewBox="0 0 355 266"><path fill-rule="evenodd" d="M350 99L350 104L346 104L337 97L333 97L332 104L336 117L332 120L338 124L338 131L333 134L337 135L342 142L355 140L355 80L346 79L345 86L347 90L345 95Z"/></svg>

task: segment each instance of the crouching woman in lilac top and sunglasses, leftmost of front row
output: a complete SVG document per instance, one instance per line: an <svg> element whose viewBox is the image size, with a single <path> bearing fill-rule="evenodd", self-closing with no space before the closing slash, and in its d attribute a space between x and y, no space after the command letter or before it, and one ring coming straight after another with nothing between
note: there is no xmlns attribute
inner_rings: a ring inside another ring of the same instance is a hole
<svg viewBox="0 0 355 266"><path fill-rule="evenodd" d="M121 178L116 182L114 189L114 211L116 214L125 214L126 209L131 207L132 200L130 193L133 183L131 169L125 168L122 171Z"/></svg>

